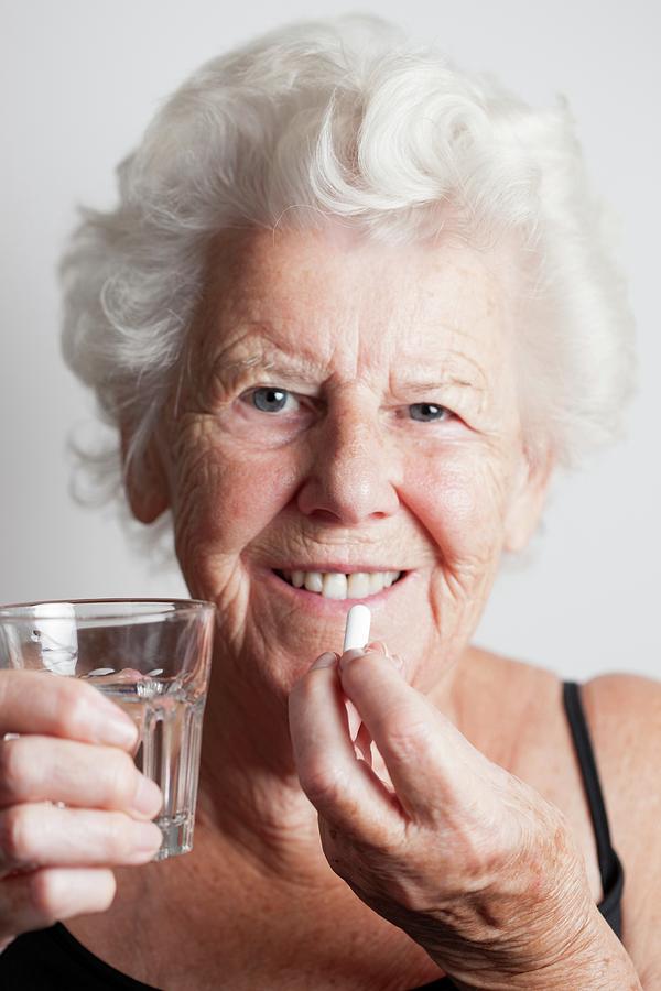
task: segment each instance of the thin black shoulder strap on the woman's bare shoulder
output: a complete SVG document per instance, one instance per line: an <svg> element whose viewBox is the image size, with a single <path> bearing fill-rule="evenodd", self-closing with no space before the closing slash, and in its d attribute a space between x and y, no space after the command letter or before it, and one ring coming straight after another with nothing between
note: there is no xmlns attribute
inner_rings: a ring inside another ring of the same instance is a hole
<svg viewBox="0 0 661 991"><path fill-rule="evenodd" d="M589 805L589 814L595 830L599 873L602 874L602 887L604 889L604 899L599 904L599 910L608 919L618 936L620 936L620 901L625 883L625 873L620 859L613 849L610 842L608 816L606 815L599 774L589 738L589 731L587 729L585 712L583 711L583 705L581 703L579 686L576 682L564 682L563 699L567 720L574 738L574 747L576 748L585 794Z"/></svg>

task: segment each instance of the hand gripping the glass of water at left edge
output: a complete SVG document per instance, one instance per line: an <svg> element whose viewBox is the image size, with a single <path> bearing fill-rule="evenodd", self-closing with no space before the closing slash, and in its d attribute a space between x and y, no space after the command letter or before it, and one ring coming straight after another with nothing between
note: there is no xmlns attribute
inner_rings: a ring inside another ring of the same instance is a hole
<svg viewBox="0 0 661 991"><path fill-rule="evenodd" d="M162 795L130 756L137 743L130 717L91 685L0 672L0 950L29 929L104 912L111 868L159 849L150 819Z"/></svg>

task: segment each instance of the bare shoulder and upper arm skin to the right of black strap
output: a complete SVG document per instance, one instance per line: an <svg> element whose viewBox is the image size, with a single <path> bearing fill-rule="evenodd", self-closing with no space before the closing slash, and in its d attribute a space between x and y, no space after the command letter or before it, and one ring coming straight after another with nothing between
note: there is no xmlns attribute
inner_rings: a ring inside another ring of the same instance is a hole
<svg viewBox="0 0 661 991"><path fill-rule="evenodd" d="M625 870L624 943L643 987L661 987L661 683L599 675L582 699Z"/></svg>

